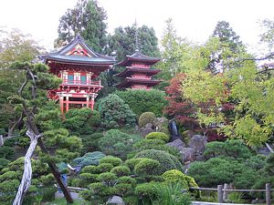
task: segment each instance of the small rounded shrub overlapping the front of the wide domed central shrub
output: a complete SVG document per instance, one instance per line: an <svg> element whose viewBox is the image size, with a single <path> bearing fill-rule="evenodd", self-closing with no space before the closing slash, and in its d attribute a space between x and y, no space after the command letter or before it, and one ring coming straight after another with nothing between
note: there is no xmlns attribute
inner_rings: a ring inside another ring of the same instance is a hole
<svg viewBox="0 0 274 205"><path fill-rule="evenodd" d="M137 175L154 175L155 169L160 166L160 162L154 159L141 159L135 167L134 172Z"/></svg>

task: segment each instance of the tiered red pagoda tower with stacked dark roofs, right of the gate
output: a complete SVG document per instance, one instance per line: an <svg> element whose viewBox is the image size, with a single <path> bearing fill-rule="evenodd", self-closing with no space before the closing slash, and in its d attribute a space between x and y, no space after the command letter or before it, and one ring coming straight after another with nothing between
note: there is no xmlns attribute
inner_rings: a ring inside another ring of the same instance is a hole
<svg viewBox="0 0 274 205"><path fill-rule="evenodd" d="M155 80L152 77L161 70L152 69L151 67L160 60L160 58L145 56L138 50L131 56L126 56L125 60L116 64L119 67L126 67L123 72L115 75L116 77L124 78L116 87L151 89L158 85L161 80Z"/></svg>

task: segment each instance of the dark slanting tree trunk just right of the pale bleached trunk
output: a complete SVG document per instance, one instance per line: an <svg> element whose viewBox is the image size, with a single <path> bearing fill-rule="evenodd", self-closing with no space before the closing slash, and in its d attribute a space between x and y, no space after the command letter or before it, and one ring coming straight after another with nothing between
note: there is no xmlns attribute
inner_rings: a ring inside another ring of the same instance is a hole
<svg viewBox="0 0 274 205"><path fill-rule="evenodd" d="M38 138L38 146L44 153L49 155L47 148L45 147L43 140L41 138ZM63 194L64 194L67 202L73 203L70 192L69 192L67 186L64 184L64 182L61 180L60 172L58 171L58 168L56 167L55 163L48 161L47 164L48 164L48 167L51 170L51 173L53 174L54 178L57 180L60 189L63 191Z"/></svg>

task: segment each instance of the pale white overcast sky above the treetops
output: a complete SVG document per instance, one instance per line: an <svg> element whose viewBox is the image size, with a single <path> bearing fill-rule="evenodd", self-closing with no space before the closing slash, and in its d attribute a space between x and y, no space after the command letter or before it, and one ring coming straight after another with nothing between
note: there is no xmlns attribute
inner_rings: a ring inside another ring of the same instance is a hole
<svg viewBox="0 0 274 205"><path fill-rule="evenodd" d="M0 26L19 28L47 50L58 36L59 18L77 0L0 0ZM273 0L98 0L107 12L108 32L115 27L152 26L160 40L165 21L174 20L178 36L204 43L218 21L227 21L250 50L258 49L258 22L274 20Z"/></svg>

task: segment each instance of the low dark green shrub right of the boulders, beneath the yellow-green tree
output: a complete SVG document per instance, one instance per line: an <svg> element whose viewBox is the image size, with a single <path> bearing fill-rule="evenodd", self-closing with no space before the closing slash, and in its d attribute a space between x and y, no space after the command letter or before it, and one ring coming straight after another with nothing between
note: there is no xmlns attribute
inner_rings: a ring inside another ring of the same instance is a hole
<svg viewBox="0 0 274 205"><path fill-rule="evenodd" d="M205 158L217 158L220 156L234 159L248 159L252 156L251 151L242 140L231 139L225 142L213 141L205 145Z"/></svg>

